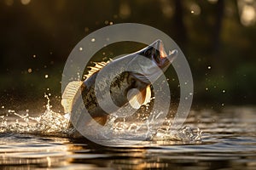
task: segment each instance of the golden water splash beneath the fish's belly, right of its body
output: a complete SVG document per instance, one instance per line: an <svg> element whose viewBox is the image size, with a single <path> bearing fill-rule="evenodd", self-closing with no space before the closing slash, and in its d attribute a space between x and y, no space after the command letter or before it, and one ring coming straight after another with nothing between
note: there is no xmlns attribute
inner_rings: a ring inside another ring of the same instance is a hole
<svg viewBox="0 0 256 170"><path fill-rule="evenodd" d="M154 118L146 122L115 122L116 117L110 119L108 126L111 127L113 137L116 139L147 139L148 141L181 141L183 143L201 142L201 133L199 127L192 128L183 126L180 129L173 129L170 120L166 120L166 126L154 129ZM113 123L114 122L114 123Z"/></svg>

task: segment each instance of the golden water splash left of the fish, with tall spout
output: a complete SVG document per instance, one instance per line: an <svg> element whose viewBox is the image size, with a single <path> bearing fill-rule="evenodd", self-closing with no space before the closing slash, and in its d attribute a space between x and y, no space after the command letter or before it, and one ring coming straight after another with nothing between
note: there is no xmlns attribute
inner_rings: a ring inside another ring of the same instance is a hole
<svg viewBox="0 0 256 170"><path fill-rule="evenodd" d="M9 110L4 116L0 116L0 133L29 133L48 134L62 136L68 133L68 120L60 113L51 110L48 95L46 110L40 116L30 116L27 110L25 114Z"/></svg>

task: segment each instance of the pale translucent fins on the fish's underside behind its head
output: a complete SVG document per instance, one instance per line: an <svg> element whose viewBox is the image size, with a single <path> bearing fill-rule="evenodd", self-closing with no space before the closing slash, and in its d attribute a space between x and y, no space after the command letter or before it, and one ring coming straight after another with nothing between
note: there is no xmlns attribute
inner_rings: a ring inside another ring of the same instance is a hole
<svg viewBox="0 0 256 170"><path fill-rule="evenodd" d="M150 86L147 88L143 89L141 92L137 92L137 90L130 90L128 93L128 99L130 105L134 109L139 109L142 105L148 104L148 102L151 99L151 89Z"/></svg>

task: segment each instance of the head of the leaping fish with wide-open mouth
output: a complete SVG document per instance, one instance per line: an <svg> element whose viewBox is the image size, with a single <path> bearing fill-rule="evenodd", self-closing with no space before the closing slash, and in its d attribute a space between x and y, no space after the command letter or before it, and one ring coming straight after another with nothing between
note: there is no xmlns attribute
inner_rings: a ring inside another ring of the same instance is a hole
<svg viewBox="0 0 256 170"><path fill-rule="evenodd" d="M137 65L137 71L132 71L132 74L138 80L150 84L156 81L171 65L177 57L177 49L166 54L164 43L161 40L156 40L136 54L131 65Z"/></svg>

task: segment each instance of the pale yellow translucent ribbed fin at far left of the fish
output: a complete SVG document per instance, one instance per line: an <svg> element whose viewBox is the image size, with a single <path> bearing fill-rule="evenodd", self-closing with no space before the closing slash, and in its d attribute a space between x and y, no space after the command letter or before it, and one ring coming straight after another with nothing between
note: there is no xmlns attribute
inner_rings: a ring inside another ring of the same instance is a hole
<svg viewBox="0 0 256 170"><path fill-rule="evenodd" d="M72 111L74 96L77 94L82 84L83 82L81 81L69 82L67 84L61 99L61 105L64 107L65 113L70 113Z"/></svg>

